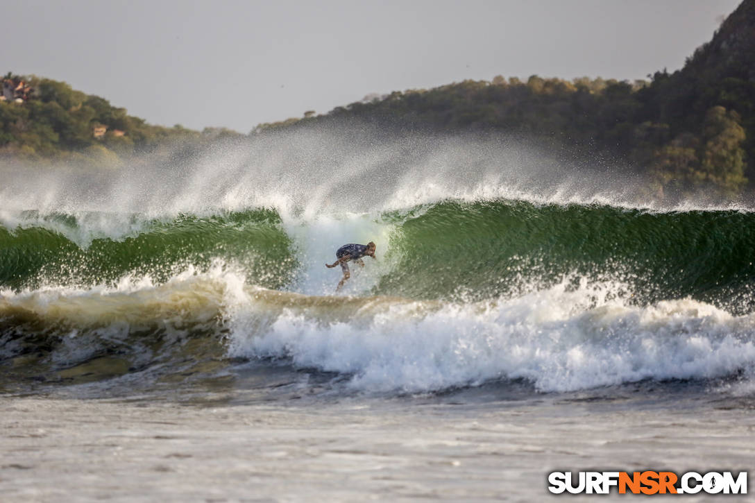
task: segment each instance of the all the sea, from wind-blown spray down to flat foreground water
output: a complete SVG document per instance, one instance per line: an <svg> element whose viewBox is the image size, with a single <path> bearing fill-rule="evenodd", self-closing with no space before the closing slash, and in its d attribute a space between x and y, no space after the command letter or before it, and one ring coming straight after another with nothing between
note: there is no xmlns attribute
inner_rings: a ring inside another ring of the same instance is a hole
<svg viewBox="0 0 755 503"><path fill-rule="evenodd" d="M533 501L755 460L744 202L369 128L0 173L11 501Z"/></svg>

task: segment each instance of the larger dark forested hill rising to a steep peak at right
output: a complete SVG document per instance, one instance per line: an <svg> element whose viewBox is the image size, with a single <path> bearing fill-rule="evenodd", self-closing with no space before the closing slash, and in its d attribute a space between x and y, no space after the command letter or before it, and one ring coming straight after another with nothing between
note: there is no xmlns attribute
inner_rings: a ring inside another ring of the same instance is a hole
<svg viewBox="0 0 755 503"><path fill-rule="evenodd" d="M504 66L504 62L502 62ZM744 0L683 69L651 81L496 76L395 91L257 131L359 119L383 128L503 131L583 159L626 162L666 193L755 186L755 0Z"/></svg>

